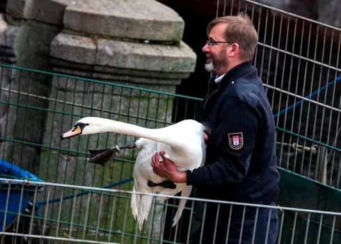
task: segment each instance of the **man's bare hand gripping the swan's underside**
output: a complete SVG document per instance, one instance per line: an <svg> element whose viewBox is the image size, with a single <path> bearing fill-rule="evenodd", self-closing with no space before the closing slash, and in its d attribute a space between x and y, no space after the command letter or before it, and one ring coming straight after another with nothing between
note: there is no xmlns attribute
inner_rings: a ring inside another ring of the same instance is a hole
<svg viewBox="0 0 341 244"><path fill-rule="evenodd" d="M152 165L153 167L153 172L158 176L168 178L174 183L186 183L187 173L178 171L176 165L174 165L172 161L164 157L164 151L160 151L159 154L164 162L159 161L159 156L157 155L157 153L152 155L152 162L150 163L150 165Z"/></svg>

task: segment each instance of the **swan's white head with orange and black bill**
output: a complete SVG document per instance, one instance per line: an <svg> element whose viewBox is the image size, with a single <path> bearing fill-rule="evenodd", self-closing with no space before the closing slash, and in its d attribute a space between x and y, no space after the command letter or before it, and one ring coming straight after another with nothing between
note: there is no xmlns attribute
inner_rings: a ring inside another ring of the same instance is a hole
<svg viewBox="0 0 341 244"><path fill-rule="evenodd" d="M103 128L105 121L105 119L96 117L86 117L80 119L74 124L74 128L61 135L61 139L69 139L71 137L76 137L77 135L100 133L102 132L101 128Z"/></svg>

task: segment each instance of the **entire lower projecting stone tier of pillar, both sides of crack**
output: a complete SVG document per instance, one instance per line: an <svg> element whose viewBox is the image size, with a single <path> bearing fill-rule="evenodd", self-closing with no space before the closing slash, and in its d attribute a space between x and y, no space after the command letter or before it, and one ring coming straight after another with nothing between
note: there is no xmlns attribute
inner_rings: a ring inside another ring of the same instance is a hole
<svg viewBox="0 0 341 244"><path fill-rule="evenodd" d="M168 46L108 39L96 41L59 33L51 43L51 56L74 63L166 73L192 73L196 67L196 53L183 42L180 46Z"/></svg>

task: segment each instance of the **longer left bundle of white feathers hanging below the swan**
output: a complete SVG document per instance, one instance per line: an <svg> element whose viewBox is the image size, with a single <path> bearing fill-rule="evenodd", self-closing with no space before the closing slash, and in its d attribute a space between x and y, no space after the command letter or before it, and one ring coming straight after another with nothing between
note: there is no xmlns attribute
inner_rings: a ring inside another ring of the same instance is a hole
<svg viewBox="0 0 341 244"><path fill-rule="evenodd" d="M134 219L138 222L138 228L140 231L143 227L143 222L148 219L148 215L150 212L150 207L152 206L152 196L148 195L140 195L136 194L134 192L136 191L136 188L134 186L133 194L132 194L132 214L134 216ZM152 192L148 192L152 193Z"/></svg>

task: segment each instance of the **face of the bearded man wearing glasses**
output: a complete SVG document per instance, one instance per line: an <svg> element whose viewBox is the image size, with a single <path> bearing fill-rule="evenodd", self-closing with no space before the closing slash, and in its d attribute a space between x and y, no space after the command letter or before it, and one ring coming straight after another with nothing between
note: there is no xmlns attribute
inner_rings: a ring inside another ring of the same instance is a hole
<svg viewBox="0 0 341 244"><path fill-rule="evenodd" d="M225 23L216 24L209 32L208 39L211 41L225 41L223 38L223 32L225 30ZM228 67L228 59L226 55L226 47L228 43L211 43L206 44L203 47L207 57L207 63L205 69L208 72L215 73L216 75L223 75L226 73Z"/></svg>

